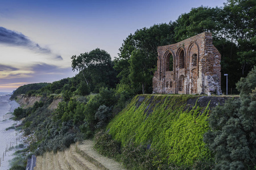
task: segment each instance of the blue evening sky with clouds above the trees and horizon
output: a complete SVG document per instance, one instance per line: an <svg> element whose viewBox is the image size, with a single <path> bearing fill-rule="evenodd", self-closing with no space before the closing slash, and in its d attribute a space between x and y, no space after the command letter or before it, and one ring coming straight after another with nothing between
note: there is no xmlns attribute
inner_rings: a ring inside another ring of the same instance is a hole
<svg viewBox="0 0 256 170"><path fill-rule="evenodd" d="M118 56L130 33L224 0L0 0L0 92L77 74L71 57L100 48Z"/></svg>

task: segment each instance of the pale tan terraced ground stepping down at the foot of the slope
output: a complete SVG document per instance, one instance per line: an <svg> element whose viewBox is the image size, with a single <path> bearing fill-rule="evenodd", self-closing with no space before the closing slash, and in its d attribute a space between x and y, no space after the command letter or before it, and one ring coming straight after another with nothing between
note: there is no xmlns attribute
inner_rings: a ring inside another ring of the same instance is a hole
<svg viewBox="0 0 256 170"><path fill-rule="evenodd" d="M48 152L43 156L38 156L36 158L35 170L48 170L51 168L125 170L121 163L98 154L98 152L93 149L93 146L94 142L92 140L85 140L71 145L65 152L57 152L57 154Z"/></svg>

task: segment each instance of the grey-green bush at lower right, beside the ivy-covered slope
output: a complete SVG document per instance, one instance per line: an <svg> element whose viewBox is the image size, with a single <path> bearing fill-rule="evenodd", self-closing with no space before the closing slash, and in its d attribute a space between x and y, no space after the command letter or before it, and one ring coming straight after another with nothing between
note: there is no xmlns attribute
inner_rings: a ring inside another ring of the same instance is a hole
<svg viewBox="0 0 256 170"><path fill-rule="evenodd" d="M216 153L216 169L256 168L255 69L237 83L240 99L229 100L209 117L204 141Z"/></svg>

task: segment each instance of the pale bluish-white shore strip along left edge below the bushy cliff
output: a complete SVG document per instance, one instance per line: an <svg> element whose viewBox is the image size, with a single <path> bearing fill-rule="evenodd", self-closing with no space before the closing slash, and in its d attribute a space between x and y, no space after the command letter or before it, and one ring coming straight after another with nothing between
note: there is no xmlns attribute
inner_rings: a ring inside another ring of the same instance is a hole
<svg viewBox="0 0 256 170"><path fill-rule="evenodd" d="M16 101L10 100L11 93L0 92L0 158L1 166L0 170L9 169L9 160L14 158L15 150L10 150L11 146L19 145L21 142L21 134L15 129L6 130L11 126L19 124L19 121L14 121L10 119L13 117L12 112L15 108L19 107L19 104ZM7 148L7 152L6 152Z"/></svg>

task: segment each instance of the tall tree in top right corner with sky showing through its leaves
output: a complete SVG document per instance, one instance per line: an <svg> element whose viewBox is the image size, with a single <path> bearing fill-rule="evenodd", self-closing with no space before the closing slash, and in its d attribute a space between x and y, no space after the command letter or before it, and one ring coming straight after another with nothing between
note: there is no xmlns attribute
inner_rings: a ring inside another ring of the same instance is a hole
<svg viewBox="0 0 256 170"><path fill-rule="evenodd" d="M223 10L225 18L221 21L225 25L225 34L229 35L230 41L237 44L242 75L246 76L256 61L256 1L228 0Z"/></svg>

